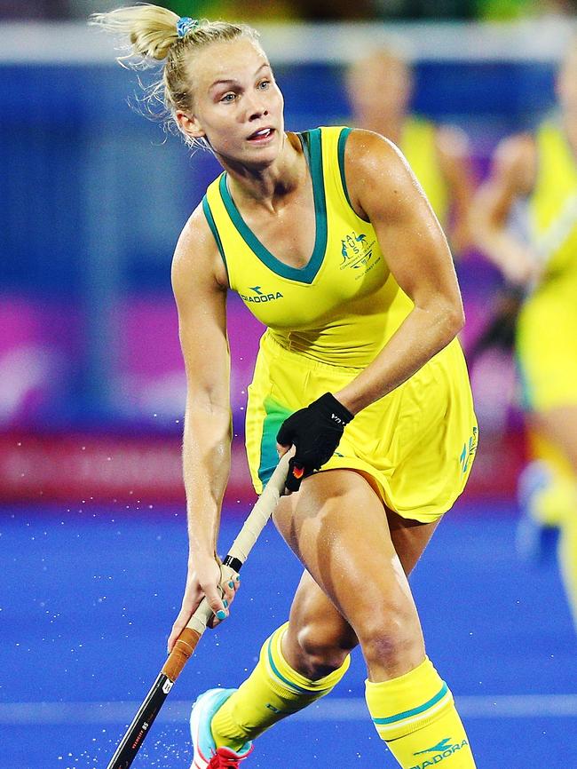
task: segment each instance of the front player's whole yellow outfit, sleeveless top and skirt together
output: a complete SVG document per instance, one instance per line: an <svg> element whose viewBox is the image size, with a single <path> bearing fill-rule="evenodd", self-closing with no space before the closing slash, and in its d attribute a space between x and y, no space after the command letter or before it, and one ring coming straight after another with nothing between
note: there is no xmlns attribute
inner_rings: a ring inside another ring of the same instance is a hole
<svg viewBox="0 0 577 769"><path fill-rule="evenodd" d="M225 173L202 202L231 288L268 327L246 411L247 458L258 494L278 463L282 422L351 382L413 307L390 274L374 228L352 210L344 179L349 133L321 128L298 135L316 215L312 256L301 269L258 241L234 205ZM360 411L322 469L360 472L391 510L431 521L461 494L477 439L467 369L454 340Z"/></svg>

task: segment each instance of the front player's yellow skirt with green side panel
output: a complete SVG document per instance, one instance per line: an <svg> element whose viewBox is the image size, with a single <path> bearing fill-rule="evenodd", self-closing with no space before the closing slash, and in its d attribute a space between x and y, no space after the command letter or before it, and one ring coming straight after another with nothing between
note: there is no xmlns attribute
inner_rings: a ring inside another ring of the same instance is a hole
<svg viewBox="0 0 577 769"><path fill-rule="evenodd" d="M338 391L359 372L291 352L265 333L246 419L257 494L278 463L276 434L287 416L324 392ZM429 523L462 493L477 442L467 367L454 340L407 382L360 411L322 470L361 472L388 508Z"/></svg>

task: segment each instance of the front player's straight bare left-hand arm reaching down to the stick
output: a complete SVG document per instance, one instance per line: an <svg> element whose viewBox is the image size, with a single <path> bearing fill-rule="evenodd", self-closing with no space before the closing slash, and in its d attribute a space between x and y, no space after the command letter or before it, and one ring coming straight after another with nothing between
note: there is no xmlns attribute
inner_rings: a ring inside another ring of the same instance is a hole
<svg viewBox="0 0 577 769"><path fill-rule="evenodd" d="M226 338L225 276L202 210L194 211L172 263L172 288L186 368L183 472L189 561L185 598L169 639L198 605L202 594L216 613L224 609L215 560L220 506L230 472L230 356Z"/></svg>

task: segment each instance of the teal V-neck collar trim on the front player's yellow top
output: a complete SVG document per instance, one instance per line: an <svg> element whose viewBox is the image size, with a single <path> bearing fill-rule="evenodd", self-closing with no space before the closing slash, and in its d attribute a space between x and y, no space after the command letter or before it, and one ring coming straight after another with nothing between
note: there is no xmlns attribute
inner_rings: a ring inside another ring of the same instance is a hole
<svg viewBox="0 0 577 769"><path fill-rule="evenodd" d="M300 283L312 283L320 270L327 250L327 202L325 199L325 185L322 175L322 149L320 145L320 128L314 131L304 131L298 134L304 148L304 155L309 164L312 178L312 194L314 198L315 238L312 257L304 267L291 267L281 262L265 248L258 240L257 235L249 228L237 209L226 185L226 174L223 174L218 184L220 196L225 204L226 212L233 225L241 234L242 240L249 246L257 258L273 273L288 278L290 281Z"/></svg>

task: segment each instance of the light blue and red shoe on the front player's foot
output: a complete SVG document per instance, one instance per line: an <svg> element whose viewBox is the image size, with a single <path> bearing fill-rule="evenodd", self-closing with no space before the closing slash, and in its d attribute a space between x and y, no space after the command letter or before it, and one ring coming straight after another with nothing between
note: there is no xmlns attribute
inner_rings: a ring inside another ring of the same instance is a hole
<svg viewBox="0 0 577 769"><path fill-rule="evenodd" d="M209 689L194 702L190 714L190 733L193 738L194 758L191 769L237 769L252 751L252 742L246 742L235 753L230 748L218 748L210 731L217 710L236 689Z"/></svg>

